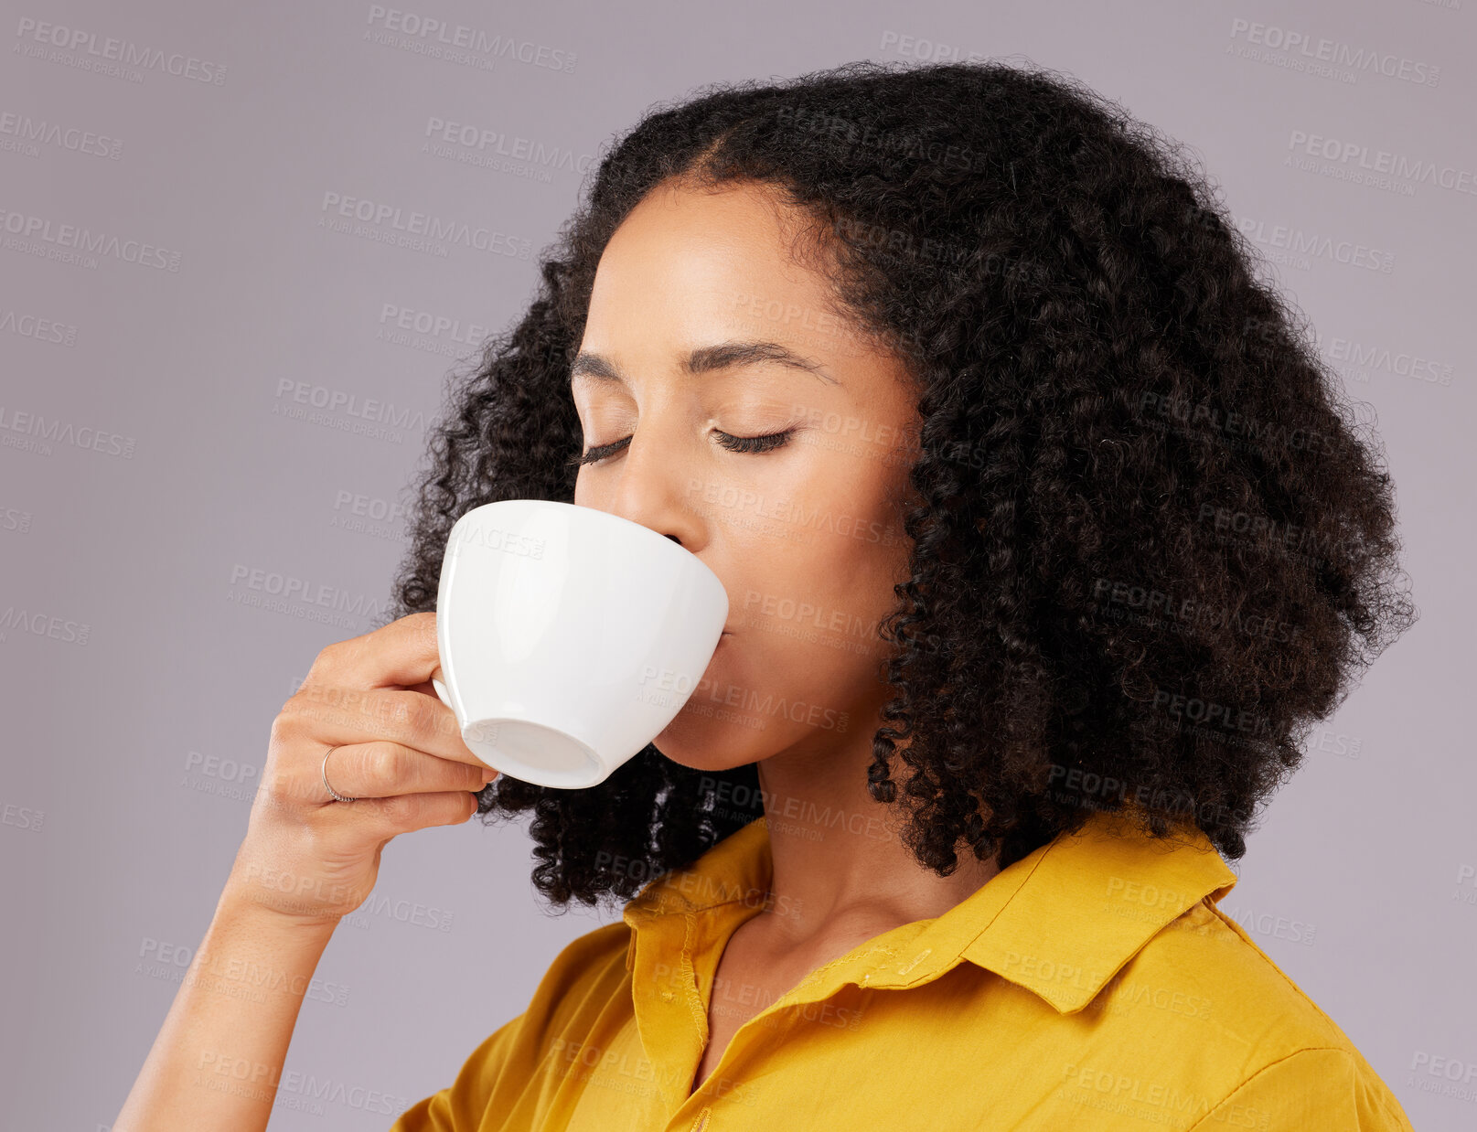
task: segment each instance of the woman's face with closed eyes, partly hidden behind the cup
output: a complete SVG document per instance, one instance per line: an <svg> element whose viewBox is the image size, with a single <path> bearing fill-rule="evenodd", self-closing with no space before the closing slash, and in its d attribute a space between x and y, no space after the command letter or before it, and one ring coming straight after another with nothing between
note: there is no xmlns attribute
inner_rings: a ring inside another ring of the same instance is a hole
<svg viewBox="0 0 1477 1132"><path fill-rule="evenodd" d="M598 458L575 502L676 540L728 592L730 632L654 741L696 769L870 756L877 621L908 577L916 397L833 314L823 269L792 260L777 208L758 187L659 186L600 260L572 367Z"/></svg>

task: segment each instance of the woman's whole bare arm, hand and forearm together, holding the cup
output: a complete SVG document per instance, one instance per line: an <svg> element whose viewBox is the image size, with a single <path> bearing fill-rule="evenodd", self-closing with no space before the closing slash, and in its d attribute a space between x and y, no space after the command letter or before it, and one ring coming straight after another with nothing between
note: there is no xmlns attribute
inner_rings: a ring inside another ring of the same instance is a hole
<svg viewBox="0 0 1477 1132"><path fill-rule="evenodd" d="M384 843L467 821L496 773L436 697L437 667L431 612L318 654L272 723L236 863L115 1132L266 1129L303 996L340 917L374 888ZM357 801L323 788L329 748L328 781ZM219 1088L222 1066L250 1083Z"/></svg>

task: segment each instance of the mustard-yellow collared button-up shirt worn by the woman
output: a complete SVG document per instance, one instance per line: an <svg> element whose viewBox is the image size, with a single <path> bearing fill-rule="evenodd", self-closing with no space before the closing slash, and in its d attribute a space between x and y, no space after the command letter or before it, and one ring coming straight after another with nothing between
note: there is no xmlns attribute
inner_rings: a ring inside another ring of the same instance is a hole
<svg viewBox="0 0 1477 1132"><path fill-rule="evenodd" d="M1411 1132L1216 908L1236 875L1204 835L1156 843L1106 813L812 971L688 1095L719 955L770 875L759 818L648 884L391 1132ZM750 987L718 995L753 1008Z"/></svg>

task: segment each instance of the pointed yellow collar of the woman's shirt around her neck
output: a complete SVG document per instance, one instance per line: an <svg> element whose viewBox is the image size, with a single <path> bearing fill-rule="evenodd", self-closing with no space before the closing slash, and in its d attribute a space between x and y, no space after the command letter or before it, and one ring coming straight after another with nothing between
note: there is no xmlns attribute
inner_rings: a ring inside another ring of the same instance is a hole
<svg viewBox="0 0 1477 1132"><path fill-rule="evenodd" d="M758 818L690 868L651 881L625 909L632 928L626 967L637 933L653 918L762 905L770 868L768 824ZM1071 1014L1170 922L1205 897L1219 902L1235 884L1236 874L1198 828L1158 840L1127 812L1096 810L1081 829L1001 869L936 919L879 937L892 946L863 946L812 977L829 986L910 987L969 961Z"/></svg>

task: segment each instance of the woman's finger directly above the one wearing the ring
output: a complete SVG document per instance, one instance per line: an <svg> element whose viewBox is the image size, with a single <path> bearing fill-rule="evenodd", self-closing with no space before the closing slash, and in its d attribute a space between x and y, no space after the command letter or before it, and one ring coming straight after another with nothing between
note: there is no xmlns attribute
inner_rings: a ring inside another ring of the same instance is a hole
<svg viewBox="0 0 1477 1132"><path fill-rule="evenodd" d="M462 741L456 713L424 692L304 683L282 705L273 726L284 738L310 738L325 750L387 739L455 763L486 766Z"/></svg>

